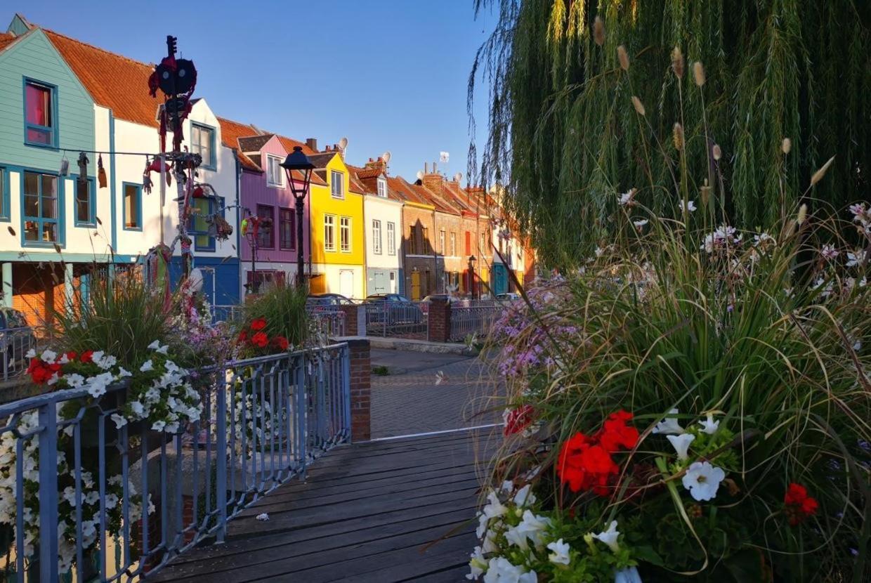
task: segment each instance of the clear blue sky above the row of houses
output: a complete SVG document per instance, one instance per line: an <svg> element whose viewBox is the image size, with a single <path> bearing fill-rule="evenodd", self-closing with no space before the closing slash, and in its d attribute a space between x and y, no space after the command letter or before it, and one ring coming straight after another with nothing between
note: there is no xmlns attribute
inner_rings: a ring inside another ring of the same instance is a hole
<svg viewBox="0 0 871 583"><path fill-rule="evenodd" d="M215 112L322 147L348 138L348 161L389 150L411 180L450 153L466 173L466 89L475 52L495 22L472 0L300 0L169 3L4 2L30 22L145 62L165 36L197 65L196 96ZM158 6L178 7L169 21ZM245 10L257 6L257 10ZM145 87L142 88L145 92ZM479 136L486 106L476 107ZM440 170L442 166L440 165ZM465 182L465 180L463 180Z"/></svg>

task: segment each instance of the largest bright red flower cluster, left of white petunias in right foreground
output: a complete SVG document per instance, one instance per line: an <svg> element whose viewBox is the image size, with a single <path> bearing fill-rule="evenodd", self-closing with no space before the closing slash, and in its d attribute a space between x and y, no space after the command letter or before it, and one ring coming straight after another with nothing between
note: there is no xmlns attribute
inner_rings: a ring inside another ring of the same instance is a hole
<svg viewBox="0 0 871 583"><path fill-rule="evenodd" d="M592 490L607 496L613 478L620 471L611 453L627 450L638 443L638 430L627 425L632 414L619 410L605 420L601 430L592 437L576 433L565 441L559 451L557 475L571 491Z"/></svg>

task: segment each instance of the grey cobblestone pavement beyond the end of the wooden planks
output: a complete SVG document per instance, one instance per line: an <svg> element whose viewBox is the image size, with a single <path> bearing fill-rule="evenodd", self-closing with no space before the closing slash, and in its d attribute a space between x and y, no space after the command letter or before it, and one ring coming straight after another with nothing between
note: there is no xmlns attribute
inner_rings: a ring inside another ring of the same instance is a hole
<svg viewBox="0 0 871 583"><path fill-rule="evenodd" d="M399 375L372 376L373 438L502 420L496 383L476 357L373 350L372 362L408 370ZM442 379L438 384L437 376Z"/></svg>

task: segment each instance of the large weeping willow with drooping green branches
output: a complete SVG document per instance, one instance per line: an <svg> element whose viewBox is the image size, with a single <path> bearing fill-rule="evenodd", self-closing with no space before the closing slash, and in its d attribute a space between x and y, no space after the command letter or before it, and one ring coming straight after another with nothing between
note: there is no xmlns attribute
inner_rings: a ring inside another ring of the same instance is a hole
<svg viewBox="0 0 871 583"><path fill-rule="evenodd" d="M571 265L606 240L631 188L674 212L684 169L693 191L714 183L718 219L741 227L772 222L802 196L812 207L869 199L866 0L474 2L497 21L469 79L469 112L477 78L490 105L469 175L504 186L545 262ZM826 180L804 193L832 156Z"/></svg>

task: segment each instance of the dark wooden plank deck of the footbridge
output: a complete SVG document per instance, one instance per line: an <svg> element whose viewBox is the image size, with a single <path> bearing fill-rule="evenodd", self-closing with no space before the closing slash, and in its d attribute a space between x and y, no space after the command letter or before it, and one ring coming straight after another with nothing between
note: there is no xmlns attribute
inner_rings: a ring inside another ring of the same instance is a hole
<svg viewBox="0 0 871 583"><path fill-rule="evenodd" d="M342 446L152 581L464 581L490 430ZM269 520L254 517L267 512Z"/></svg>

